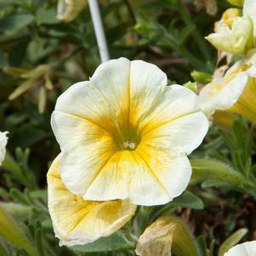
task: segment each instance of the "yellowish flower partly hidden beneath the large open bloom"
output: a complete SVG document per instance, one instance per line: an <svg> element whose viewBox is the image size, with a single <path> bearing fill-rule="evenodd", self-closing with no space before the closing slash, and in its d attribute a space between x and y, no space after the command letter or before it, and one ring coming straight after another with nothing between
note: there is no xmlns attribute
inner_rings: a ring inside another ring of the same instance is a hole
<svg viewBox="0 0 256 256"><path fill-rule="evenodd" d="M128 201L85 201L68 191L60 178L61 155L47 174L48 210L60 245L81 245L110 236L132 218L136 206Z"/></svg>

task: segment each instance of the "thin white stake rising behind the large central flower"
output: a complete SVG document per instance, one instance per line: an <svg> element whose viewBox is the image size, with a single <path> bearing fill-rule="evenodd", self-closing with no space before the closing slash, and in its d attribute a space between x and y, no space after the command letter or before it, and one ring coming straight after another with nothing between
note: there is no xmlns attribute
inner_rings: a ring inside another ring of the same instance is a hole
<svg viewBox="0 0 256 256"><path fill-rule="evenodd" d="M88 0L88 4L94 23L94 31L100 51L100 60L101 62L105 62L107 60L110 60L110 56L105 41L105 33L102 26L99 5L97 0Z"/></svg>

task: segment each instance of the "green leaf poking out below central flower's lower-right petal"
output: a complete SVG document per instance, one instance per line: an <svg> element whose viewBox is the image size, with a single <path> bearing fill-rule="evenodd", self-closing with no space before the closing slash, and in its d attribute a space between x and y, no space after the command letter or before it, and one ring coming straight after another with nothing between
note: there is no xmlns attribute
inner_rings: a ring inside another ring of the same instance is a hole
<svg viewBox="0 0 256 256"><path fill-rule="evenodd" d="M174 198L174 201L171 202L171 204L182 208L191 208L197 210L203 209L202 200L189 191L185 191L180 196Z"/></svg>

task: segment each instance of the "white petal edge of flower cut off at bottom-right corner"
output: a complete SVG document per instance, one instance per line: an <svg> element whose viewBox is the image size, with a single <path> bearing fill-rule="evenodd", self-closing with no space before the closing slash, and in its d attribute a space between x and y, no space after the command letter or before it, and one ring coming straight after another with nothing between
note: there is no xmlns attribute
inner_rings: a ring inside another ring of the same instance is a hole
<svg viewBox="0 0 256 256"><path fill-rule="evenodd" d="M238 244L235 247L231 247L230 250L224 254L224 256L255 256L256 255L256 241L244 242Z"/></svg>

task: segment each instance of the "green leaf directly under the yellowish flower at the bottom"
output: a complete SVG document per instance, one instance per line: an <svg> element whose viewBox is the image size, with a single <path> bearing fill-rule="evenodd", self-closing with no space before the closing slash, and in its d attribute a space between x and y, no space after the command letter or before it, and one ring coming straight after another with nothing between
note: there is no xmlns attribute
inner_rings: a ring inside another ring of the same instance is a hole
<svg viewBox="0 0 256 256"><path fill-rule="evenodd" d="M131 245L119 232L117 232L111 236L100 238L95 242L85 245L77 245L71 248L82 253L93 253L128 249L133 248L133 245Z"/></svg>

